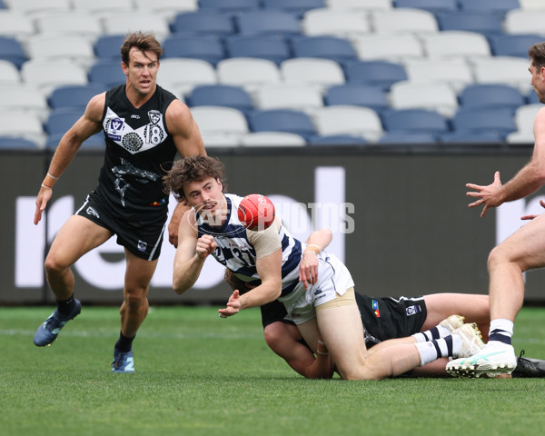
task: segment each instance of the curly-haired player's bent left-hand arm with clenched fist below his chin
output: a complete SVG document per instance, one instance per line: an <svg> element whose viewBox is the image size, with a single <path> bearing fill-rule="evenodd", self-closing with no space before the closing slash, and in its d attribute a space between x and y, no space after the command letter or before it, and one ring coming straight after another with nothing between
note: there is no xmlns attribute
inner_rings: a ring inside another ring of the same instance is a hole
<svg viewBox="0 0 545 436"><path fill-rule="evenodd" d="M198 237L194 211L183 215L180 223L181 243L174 255L173 290L183 293L199 278L206 258L213 253L216 243L209 234Z"/></svg>

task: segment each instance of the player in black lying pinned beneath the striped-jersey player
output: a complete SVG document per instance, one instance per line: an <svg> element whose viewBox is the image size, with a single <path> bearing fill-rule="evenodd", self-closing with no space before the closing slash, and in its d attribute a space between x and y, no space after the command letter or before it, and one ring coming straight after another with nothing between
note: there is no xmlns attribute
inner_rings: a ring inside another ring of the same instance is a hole
<svg viewBox="0 0 545 436"><path fill-rule="evenodd" d="M312 235L309 237L312 240ZM312 257L307 255L305 257ZM239 280L233 272L225 269L225 282L235 289L250 289L247 283ZM406 338L416 342L423 336L433 337L450 331L452 326L466 322L481 324L489 318L488 296L462 293L438 293L423 297L394 299L392 297L372 298L355 293L356 302L362 315L365 331L365 345L368 349L379 342L395 338ZM263 334L265 342L273 352L284 359L294 371L302 376L316 379L332 377L332 364L327 355L314 355L302 339L297 326L287 319L282 303L275 301L261 307ZM451 315L454 312L463 315ZM451 317L447 320L448 317ZM436 325L441 320L442 325ZM435 329L435 330L434 330ZM445 330L447 329L447 330ZM431 331L431 332L430 332ZM485 336L485 332L482 332ZM420 333L420 334L417 334ZM421 368L414 369L410 375L416 377L443 377L447 375L447 359L438 359ZM513 377L545 377L545 361L519 357Z"/></svg>

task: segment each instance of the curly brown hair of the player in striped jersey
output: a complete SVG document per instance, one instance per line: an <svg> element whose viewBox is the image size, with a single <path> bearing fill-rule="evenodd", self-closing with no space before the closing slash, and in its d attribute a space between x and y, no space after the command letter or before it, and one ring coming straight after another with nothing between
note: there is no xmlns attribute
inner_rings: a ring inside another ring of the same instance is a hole
<svg viewBox="0 0 545 436"><path fill-rule="evenodd" d="M163 176L164 193L173 193L176 200L185 198L185 183L202 182L208 177L219 180L225 191L225 165L218 159L203 154L185 157L173 163L172 169Z"/></svg>

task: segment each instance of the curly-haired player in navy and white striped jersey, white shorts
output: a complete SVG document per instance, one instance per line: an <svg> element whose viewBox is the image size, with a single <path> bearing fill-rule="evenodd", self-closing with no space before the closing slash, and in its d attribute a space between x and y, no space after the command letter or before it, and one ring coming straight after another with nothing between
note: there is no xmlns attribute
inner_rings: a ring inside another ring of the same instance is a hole
<svg viewBox="0 0 545 436"><path fill-rule="evenodd" d="M183 293L198 279L212 254L253 288L234 290L222 317L279 300L304 341L319 356L331 355L343 379L380 380L434 362L480 350L484 345L471 324L444 337L418 342L382 342L365 347L362 319L350 272L318 245L294 239L277 217L267 229L246 229L237 209L242 198L223 193L223 163L204 155L181 159L164 177L165 192L192 206L180 223L174 257L173 289ZM300 276L302 256L315 252L318 271ZM301 280L300 280L301 279ZM310 280L310 284L309 284ZM332 367L331 367L332 371Z"/></svg>

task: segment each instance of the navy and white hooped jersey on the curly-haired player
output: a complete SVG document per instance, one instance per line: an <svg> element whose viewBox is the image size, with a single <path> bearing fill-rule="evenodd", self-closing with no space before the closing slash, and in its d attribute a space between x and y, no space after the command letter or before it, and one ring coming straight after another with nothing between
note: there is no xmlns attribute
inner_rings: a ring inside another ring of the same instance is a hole
<svg viewBox="0 0 545 436"><path fill-rule="evenodd" d="M238 205L243 197L226 193L227 217L222 227L212 227L203 223L203 218L196 213L198 237L203 234L213 236L217 247L213 257L219 263L233 271L237 276L244 276L246 282L259 284L255 266L256 253L243 223L238 219ZM282 243L282 297L290 294L299 283L299 263L302 257L302 244L292 237L281 224L279 229Z"/></svg>

